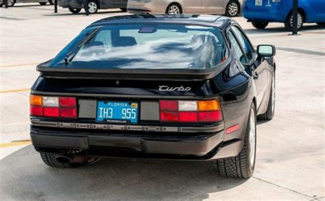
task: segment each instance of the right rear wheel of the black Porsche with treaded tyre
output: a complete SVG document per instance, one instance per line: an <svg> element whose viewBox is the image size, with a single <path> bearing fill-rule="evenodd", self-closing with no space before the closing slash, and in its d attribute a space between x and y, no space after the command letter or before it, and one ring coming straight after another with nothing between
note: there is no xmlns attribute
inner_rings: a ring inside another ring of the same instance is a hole
<svg viewBox="0 0 325 201"><path fill-rule="evenodd" d="M232 178L250 178L254 172L256 158L256 109L254 103L246 126L241 152L237 156L220 159L217 169L221 176Z"/></svg>

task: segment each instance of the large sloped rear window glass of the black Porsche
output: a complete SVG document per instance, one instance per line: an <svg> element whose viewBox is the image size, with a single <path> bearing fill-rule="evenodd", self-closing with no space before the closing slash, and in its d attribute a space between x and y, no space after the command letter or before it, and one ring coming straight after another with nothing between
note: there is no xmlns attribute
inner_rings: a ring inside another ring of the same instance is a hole
<svg viewBox="0 0 325 201"><path fill-rule="evenodd" d="M88 28L82 36L80 43L68 45L51 67L210 69L228 58L223 37L214 27L108 25Z"/></svg>

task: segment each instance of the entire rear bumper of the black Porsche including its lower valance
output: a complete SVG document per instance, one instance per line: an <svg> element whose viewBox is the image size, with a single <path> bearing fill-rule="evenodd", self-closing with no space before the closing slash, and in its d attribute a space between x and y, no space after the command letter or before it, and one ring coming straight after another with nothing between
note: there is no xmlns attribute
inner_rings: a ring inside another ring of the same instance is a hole
<svg viewBox="0 0 325 201"><path fill-rule="evenodd" d="M166 158L210 160L235 156L241 141L224 146L224 131L189 137L138 134L84 134L33 129L31 139L38 152L60 153L62 150L84 150L89 156L127 158ZM226 149L226 152L222 151ZM220 153L220 156L218 155Z"/></svg>

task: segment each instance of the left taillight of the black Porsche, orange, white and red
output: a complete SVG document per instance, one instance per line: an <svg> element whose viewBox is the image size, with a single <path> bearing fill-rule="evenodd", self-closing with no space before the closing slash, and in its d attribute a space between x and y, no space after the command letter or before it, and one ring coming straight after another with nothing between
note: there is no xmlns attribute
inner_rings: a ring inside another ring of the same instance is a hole
<svg viewBox="0 0 325 201"><path fill-rule="evenodd" d="M30 95L29 104L32 116L77 118L75 97Z"/></svg>

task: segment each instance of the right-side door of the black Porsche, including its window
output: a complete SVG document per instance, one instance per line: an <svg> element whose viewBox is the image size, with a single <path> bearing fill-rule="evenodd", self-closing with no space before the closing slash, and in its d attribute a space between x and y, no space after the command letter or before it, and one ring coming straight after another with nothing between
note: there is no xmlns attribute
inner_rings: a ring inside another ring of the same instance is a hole
<svg viewBox="0 0 325 201"><path fill-rule="evenodd" d="M269 75L267 73L267 64L265 60L258 60L250 40L245 36L243 31L236 25L232 25L231 32L236 37L240 49L243 53L243 58L240 59L241 63L251 69L254 82L256 83L256 104L257 108L264 104L263 97L269 86Z"/></svg>

